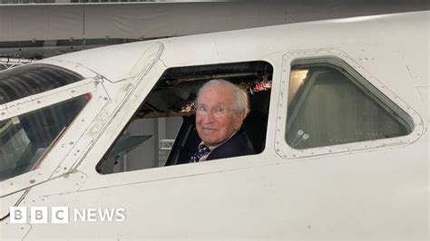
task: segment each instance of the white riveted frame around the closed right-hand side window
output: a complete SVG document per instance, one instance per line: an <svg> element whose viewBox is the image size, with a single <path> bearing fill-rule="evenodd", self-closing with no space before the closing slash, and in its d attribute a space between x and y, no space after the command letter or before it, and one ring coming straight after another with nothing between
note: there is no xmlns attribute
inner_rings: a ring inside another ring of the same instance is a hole
<svg viewBox="0 0 430 241"><path fill-rule="evenodd" d="M406 136L395 138L356 141L309 149L294 149L289 146L285 137L287 134L288 90L291 67L297 63L321 63L323 60L327 61L328 66L337 66L348 72L348 74L355 78L355 81L359 82L366 90L372 92L378 101L383 101L388 107L397 108L399 111L406 113L408 115L406 118L409 118L410 121L407 121L404 116L402 116L402 118L411 125L412 131ZM391 105L391 103L395 105ZM347 53L337 49L285 53L282 60L282 76L278 106L275 150L278 155L284 159L299 159L355 150L404 146L417 140L424 131L423 121L412 107L408 106L406 102L401 100L394 92L391 92L382 82L372 76L371 73L366 72L366 70Z"/></svg>

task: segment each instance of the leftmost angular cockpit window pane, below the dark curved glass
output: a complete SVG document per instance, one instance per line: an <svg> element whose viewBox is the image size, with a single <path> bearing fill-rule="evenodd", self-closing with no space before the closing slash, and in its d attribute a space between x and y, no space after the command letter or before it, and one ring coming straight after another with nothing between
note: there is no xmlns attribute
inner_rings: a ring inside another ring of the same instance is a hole
<svg viewBox="0 0 430 241"><path fill-rule="evenodd" d="M84 95L0 120L0 181L37 168L88 100Z"/></svg>

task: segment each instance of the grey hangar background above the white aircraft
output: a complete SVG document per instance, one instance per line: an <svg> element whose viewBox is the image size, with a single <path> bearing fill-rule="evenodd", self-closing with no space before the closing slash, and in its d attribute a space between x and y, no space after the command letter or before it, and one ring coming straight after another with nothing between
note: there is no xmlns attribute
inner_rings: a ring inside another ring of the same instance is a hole
<svg viewBox="0 0 430 241"><path fill-rule="evenodd" d="M428 0L0 0L0 63L162 37L428 9Z"/></svg>

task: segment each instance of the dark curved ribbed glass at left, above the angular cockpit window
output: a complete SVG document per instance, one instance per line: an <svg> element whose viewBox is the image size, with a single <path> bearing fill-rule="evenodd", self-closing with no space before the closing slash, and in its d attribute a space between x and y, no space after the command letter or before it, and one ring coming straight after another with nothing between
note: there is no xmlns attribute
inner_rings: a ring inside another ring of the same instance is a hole
<svg viewBox="0 0 430 241"><path fill-rule="evenodd" d="M78 82L82 76L47 64L28 64L0 72L0 104Z"/></svg>

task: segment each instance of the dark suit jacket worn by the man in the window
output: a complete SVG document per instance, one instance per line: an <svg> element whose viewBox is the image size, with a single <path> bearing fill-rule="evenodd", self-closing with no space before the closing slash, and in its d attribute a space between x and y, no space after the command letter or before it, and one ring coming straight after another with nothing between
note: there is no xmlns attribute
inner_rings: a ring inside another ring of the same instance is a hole
<svg viewBox="0 0 430 241"><path fill-rule="evenodd" d="M181 153L177 164L188 163L191 159L192 154L197 152L201 140L197 134L197 130L191 133L187 144L181 149ZM245 131L239 130L234 136L227 142L220 145L218 148L210 151L207 160L210 159L225 159L230 157L239 157L244 155L255 154L252 143Z"/></svg>

